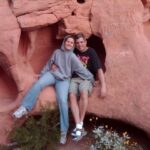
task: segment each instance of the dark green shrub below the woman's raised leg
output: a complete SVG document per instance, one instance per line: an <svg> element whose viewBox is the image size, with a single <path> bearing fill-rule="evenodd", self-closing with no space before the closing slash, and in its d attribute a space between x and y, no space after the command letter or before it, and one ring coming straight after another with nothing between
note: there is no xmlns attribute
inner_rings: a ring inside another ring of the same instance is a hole
<svg viewBox="0 0 150 150"><path fill-rule="evenodd" d="M12 141L19 144L22 150L55 149L59 135L59 111L45 110L41 116L31 116L25 124L14 128Z"/></svg>

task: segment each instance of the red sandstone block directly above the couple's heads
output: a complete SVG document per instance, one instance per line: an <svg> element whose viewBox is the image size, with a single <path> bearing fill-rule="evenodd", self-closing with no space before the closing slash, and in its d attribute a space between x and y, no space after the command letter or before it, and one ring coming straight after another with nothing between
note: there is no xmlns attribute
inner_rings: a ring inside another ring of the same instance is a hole
<svg viewBox="0 0 150 150"><path fill-rule="evenodd" d="M83 32L87 38L92 34L90 26L92 2L92 0L87 0L84 4L76 4L72 15L65 17L59 23L58 38L62 38L66 33Z"/></svg>

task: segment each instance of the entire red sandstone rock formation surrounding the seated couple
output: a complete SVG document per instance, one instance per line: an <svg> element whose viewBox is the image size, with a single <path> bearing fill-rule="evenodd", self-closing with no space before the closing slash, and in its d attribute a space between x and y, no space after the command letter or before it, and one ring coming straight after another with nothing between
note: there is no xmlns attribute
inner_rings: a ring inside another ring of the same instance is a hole
<svg viewBox="0 0 150 150"><path fill-rule="evenodd" d="M95 87L88 112L128 122L150 134L148 10L148 0L0 1L0 144L8 143L14 124L10 114L59 46L56 36L77 32L98 36L106 50L108 94L99 98L99 86ZM55 107L55 101L54 89L46 88L34 112L47 104Z"/></svg>

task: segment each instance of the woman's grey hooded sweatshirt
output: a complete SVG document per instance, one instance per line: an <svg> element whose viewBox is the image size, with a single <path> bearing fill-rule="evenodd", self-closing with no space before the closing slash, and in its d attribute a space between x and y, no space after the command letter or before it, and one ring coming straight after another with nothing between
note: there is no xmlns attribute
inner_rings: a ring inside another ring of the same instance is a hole
<svg viewBox="0 0 150 150"><path fill-rule="evenodd" d="M67 38L67 36L64 38ZM46 66L41 71L41 76L50 71L58 80L70 79L73 72L75 72L82 79L94 81L93 75L83 66L73 50L65 50L64 41L60 49L56 49L52 57L48 60ZM51 65L57 65L56 71L50 70Z"/></svg>

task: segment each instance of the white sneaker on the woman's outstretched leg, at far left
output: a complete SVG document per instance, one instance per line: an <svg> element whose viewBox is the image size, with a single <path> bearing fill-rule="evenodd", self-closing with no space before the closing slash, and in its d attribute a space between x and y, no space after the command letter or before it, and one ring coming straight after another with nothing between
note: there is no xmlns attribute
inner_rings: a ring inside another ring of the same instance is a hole
<svg viewBox="0 0 150 150"><path fill-rule="evenodd" d="M24 106L20 106L14 113L13 117L19 119L28 113L27 109Z"/></svg>

